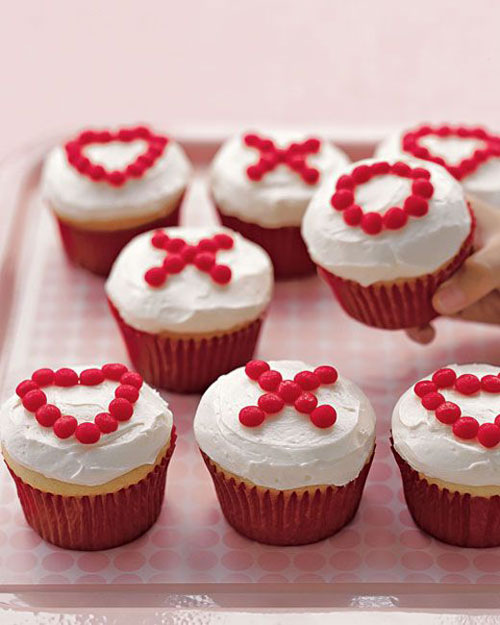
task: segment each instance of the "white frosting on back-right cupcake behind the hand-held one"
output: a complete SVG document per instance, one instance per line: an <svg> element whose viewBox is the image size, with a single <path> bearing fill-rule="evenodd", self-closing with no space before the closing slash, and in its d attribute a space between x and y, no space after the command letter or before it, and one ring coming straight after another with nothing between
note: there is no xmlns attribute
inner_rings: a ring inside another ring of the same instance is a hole
<svg viewBox="0 0 500 625"><path fill-rule="evenodd" d="M395 157L403 151L402 136L406 131L387 137L377 147L376 155L380 158ZM472 156L475 150L483 149L485 144L480 139L461 137L422 137L420 143L435 156L441 156L449 165L457 165L461 160ZM500 208L500 158L491 158L480 165L474 172L462 179L465 190L485 202Z"/></svg>

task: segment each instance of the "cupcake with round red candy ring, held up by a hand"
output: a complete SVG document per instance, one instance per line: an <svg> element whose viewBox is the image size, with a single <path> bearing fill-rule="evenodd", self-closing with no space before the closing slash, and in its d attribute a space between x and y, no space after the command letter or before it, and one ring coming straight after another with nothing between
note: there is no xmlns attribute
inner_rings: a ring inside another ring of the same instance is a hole
<svg viewBox="0 0 500 625"><path fill-rule="evenodd" d="M420 326L472 249L474 219L441 166L366 159L326 181L302 234L344 310L377 328Z"/></svg>

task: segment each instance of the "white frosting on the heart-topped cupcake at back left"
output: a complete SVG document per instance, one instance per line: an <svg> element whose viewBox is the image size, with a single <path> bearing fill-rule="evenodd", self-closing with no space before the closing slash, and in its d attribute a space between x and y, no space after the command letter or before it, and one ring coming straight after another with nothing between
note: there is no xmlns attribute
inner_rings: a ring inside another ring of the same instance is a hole
<svg viewBox="0 0 500 625"><path fill-rule="evenodd" d="M106 169L122 169L144 152L142 140L93 144L85 154ZM63 146L51 150L42 173L42 194L61 217L77 222L106 222L154 215L175 204L186 189L191 165L184 150L169 140L165 151L142 178L114 187L80 174L66 157Z"/></svg>

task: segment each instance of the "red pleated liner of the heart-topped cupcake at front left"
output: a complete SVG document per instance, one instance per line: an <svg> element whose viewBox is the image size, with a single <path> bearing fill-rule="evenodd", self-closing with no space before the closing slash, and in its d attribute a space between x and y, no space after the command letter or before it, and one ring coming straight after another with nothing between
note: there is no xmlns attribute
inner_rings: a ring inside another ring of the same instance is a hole
<svg viewBox="0 0 500 625"><path fill-rule="evenodd" d="M138 538L158 518L175 439L174 427L162 461L137 484L109 494L74 497L47 493L7 468L26 521L44 540L64 549L111 549Z"/></svg>

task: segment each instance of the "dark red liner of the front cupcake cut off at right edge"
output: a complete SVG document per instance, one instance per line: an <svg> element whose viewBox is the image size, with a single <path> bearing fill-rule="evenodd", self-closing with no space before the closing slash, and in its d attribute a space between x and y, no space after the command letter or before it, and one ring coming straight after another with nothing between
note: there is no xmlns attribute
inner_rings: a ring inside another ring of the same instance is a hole
<svg viewBox="0 0 500 625"><path fill-rule="evenodd" d="M458 547L500 546L500 496L450 491L420 477L392 448L408 510L424 532Z"/></svg>

